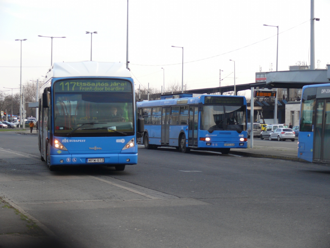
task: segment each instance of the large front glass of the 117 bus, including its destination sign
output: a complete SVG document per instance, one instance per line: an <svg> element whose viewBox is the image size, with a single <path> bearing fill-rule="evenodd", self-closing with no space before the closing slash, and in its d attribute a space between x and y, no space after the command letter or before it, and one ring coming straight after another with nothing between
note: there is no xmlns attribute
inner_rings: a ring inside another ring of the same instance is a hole
<svg viewBox="0 0 330 248"><path fill-rule="evenodd" d="M134 132L129 81L61 80L53 89L55 136L123 136Z"/></svg>

